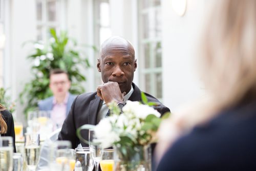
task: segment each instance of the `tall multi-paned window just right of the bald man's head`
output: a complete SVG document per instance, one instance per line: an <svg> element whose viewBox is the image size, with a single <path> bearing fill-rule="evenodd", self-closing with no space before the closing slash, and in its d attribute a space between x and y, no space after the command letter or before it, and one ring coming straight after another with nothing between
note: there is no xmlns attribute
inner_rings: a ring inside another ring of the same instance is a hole
<svg viewBox="0 0 256 171"><path fill-rule="evenodd" d="M161 99L161 0L138 0L138 10L140 87Z"/></svg>

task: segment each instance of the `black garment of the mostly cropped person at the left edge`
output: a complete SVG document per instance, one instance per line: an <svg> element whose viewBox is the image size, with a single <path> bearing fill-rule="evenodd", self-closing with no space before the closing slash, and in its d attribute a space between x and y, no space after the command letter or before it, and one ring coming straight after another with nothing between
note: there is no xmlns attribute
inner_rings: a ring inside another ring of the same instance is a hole
<svg viewBox="0 0 256 171"><path fill-rule="evenodd" d="M8 110L1 112L2 117L4 118L6 124L7 124L7 132L6 134L1 134L1 136L9 136L13 139L13 152L16 153L16 147L15 147L15 132L14 132L14 121L11 112Z"/></svg>

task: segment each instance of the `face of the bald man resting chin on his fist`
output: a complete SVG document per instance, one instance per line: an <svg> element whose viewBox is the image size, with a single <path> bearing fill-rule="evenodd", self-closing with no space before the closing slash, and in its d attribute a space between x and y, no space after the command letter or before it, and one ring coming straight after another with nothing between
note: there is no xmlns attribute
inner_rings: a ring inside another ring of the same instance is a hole
<svg viewBox="0 0 256 171"><path fill-rule="evenodd" d="M137 62L127 47L112 47L98 59L98 71L103 82L118 82L121 92L129 93Z"/></svg>

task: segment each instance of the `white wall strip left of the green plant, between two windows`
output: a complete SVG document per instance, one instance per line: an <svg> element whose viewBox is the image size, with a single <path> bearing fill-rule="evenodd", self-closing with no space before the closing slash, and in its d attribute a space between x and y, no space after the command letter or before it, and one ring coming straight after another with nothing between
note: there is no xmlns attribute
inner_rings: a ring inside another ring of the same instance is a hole
<svg viewBox="0 0 256 171"><path fill-rule="evenodd" d="M26 3L25 3L26 2ZM26 4L26 5L25 5ZM22 47L27 40L34 40L35 32L35 3L34 0L13 0L10 13L10 72L8 74L13 99L23 91L24 84L31 77L30 62L27 59L31 45ZM17 120L24 120L23 107L17 103L17 111L14 114Z"/></svg>

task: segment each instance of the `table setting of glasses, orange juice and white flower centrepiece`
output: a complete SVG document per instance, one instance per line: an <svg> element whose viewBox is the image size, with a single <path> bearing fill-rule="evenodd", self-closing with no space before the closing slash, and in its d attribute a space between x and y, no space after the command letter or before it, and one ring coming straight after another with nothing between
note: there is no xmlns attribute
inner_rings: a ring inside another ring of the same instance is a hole
<svg viewBox="0 0 256 171"><path fill-rule="evenodd" d="M156 142L158 127L169 113L160 117L147 101L127 101L122 111L116 103L110 103L109 109L110 116L97 125L85 124L77 129L76 136L88 146L79 144L75 149L70 141L57 140L60 128L54 131L51 112L30 112L26 129L15 123L16 142L1 137L0 171L151 171L151 144ZM82 130L89 136L82 137Z"/></svg>

